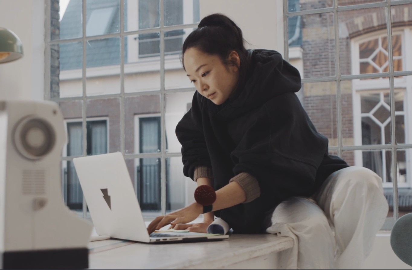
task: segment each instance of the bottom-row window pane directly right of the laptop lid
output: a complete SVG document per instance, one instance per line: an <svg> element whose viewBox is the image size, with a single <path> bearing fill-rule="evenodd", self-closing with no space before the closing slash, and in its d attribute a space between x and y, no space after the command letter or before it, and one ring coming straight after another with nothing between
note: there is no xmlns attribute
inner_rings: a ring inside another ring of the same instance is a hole
<svg viewBox="0 0 412 270"><path fill-rule="evenodd" d="M143 212L162 209L161 159L160 157L126 160L133 186ZM133 176L133 177L132 177Z"/></svg>

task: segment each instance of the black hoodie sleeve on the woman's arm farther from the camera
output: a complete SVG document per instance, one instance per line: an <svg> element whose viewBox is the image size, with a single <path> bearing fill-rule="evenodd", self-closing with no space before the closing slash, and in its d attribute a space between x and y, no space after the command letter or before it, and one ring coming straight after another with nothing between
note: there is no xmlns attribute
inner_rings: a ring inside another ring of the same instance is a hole
<svg viewBox="0 0 412 270"><path fill-rule="evenodd" d="M192 178L197 166L211 168L202 127L200 94L194 93L192 108L176 126L176 136L182 145L183 174Z"/></svg>

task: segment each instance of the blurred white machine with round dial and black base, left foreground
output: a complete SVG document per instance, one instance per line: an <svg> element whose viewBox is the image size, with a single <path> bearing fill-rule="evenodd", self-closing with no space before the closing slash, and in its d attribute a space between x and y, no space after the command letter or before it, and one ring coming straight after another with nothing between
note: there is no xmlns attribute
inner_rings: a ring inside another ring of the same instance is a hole
<svg viewBox="0 0 412 270"><path fill-rule="evenodd" d="M3 269L88 268L90 222L63 202L66 131L50 101L0 101Z"/></svg>

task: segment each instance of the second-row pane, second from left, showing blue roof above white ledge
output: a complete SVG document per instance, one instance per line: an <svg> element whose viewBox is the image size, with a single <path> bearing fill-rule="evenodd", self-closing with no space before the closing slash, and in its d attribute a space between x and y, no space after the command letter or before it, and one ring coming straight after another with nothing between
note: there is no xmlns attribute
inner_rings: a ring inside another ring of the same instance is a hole
<svg viewBox="0 0 412 270"><path fill-rule="evenodd" d="M120 38L89 40L86 63L87 96L120 93Z"/></svg>

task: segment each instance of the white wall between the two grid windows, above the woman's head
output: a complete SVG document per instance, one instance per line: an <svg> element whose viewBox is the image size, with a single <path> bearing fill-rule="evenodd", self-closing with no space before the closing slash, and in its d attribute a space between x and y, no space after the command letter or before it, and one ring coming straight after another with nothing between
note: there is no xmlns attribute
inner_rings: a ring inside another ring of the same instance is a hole
<svg viewBox="0 0 412 270"><path fill-rule="evenodd" d="M282 0L200 0L200 18L229 16L242 30L247 49L272 49L283 55Z"/></svg>

